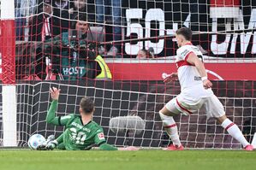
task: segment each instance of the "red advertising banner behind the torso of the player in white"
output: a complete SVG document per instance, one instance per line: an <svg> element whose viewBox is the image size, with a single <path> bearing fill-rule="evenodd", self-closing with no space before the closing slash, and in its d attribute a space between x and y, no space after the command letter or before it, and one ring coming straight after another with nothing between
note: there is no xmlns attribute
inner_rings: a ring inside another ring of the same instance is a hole
<svg viewBox="0 0 256 170"><path fill-rule="evenodd" d="M114 80L161 80L175 63L108 63ZM256 80L256 63L205 63L210 79Z"/></svg>

